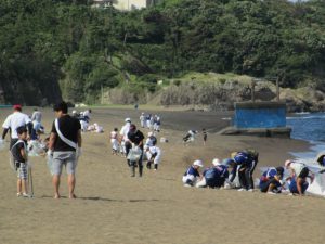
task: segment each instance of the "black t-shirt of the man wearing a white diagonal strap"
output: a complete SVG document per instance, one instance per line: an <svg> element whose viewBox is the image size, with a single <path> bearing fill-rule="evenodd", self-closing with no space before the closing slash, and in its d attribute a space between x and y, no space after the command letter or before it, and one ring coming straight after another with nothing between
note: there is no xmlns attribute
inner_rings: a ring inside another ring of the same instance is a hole
<svg viewBox="0 0 325 244"><path fill-rule="evenodd" d="M78 131L81 129L81 125L77 118L70 117L69 115L64 115L63 117L58 118L58 129L66 139L75 143L78 142ZM61 140L58 133L56 132L55 121L53 121L51 132L56 134L56 140L54 142L54 151L76 151L76 149L69 146Z"/></svg>

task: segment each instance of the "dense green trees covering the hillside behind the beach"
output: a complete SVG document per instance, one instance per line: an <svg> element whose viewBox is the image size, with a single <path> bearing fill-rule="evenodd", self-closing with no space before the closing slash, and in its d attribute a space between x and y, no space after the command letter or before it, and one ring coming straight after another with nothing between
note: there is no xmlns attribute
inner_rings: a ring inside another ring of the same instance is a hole
<svg viewBox="0 0 325 244"><path fill-rule="evenodd" d="M280 75L285 87L322 86L325 4L166 0L119 12L87 0L2 0L0 51L4 102L52 103L62 92L94 103L101 89L154 92L158 79L187 72Z"/></svg>

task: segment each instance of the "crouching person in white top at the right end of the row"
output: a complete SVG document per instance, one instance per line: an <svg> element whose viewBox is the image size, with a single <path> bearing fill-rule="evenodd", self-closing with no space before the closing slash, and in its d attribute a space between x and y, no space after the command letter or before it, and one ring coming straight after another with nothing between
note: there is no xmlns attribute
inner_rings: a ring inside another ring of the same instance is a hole
<svg viewBox="0 0 325 244"><path fill-rule="evenodd" d="M311 179L311 182L314 180L314 175L310 169L302 163L297 163L292 160L285 162L285 168L291 171L290 177L286 180L290 180L289 190L292 194L299 194L302 196L306 190L309 187L307 178Z"/></svg>

